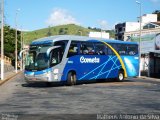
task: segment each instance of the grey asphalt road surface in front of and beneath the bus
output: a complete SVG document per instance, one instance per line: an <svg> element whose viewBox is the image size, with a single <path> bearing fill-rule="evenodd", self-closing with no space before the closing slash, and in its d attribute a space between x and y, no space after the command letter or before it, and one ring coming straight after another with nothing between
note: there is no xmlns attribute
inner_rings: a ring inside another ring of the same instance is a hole
<svg viewBox="0 0 160 120"><path fill-rule="evenodd" d="M121 114L160 114L160 79L48 87L28 85L19 74L0 86L0 119L78 120Z"/></svg>

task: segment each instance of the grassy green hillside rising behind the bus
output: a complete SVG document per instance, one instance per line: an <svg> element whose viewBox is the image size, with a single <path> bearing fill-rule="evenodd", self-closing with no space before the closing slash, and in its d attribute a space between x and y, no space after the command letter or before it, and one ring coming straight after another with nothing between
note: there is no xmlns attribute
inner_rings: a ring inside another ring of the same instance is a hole
<svg viewBox="0 0 160 120"><path fill-rule="evenodd" d="M75 24L68 24L68 25L60 25L54 27L48 27L40 30L35 30L31 32L23 32L24 40L26 44L31 43L31 41L48 36L54 35L80 35L80 36L88 36L88 33L94 31L97 32L99 29L91 29L90 27L84 28L82 26L78 26ZM113 31L107 31L111 33L111 37L114 36Z"/></svg>

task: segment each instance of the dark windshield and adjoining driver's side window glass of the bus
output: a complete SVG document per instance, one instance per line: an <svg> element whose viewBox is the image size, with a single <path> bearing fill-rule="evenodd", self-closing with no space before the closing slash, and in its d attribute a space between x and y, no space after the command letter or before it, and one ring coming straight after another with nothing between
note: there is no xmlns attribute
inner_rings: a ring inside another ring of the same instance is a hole
<svg viewBox="0 0 160 120"><path fill-rule="evenodd" d="M50 46L31 46L26 57L25 69L28 71L40 71L59 64L63 57L61 47L56 47L47 55Z"/></svg>

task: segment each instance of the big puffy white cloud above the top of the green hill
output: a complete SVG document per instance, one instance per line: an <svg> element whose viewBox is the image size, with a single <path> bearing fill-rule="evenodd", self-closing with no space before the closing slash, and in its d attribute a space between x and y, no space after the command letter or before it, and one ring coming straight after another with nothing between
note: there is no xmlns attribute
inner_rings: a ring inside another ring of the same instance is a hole
<svg viewBox="0 0 160 120"><path fill-rule="evenodd" d="M46 23L49 26L80 24L67 10L61 8L54 9Z"/></svg>

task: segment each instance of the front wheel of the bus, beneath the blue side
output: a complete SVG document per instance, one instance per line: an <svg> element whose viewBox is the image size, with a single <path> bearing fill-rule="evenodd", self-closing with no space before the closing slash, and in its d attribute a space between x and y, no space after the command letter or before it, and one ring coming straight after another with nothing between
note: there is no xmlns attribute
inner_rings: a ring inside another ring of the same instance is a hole
<svg viewBox="0 0 160 120"><path fill-rule="evenodd" d="M67 85L76 85L76 74L74 72L69 72L67 77Z"/></svg>

